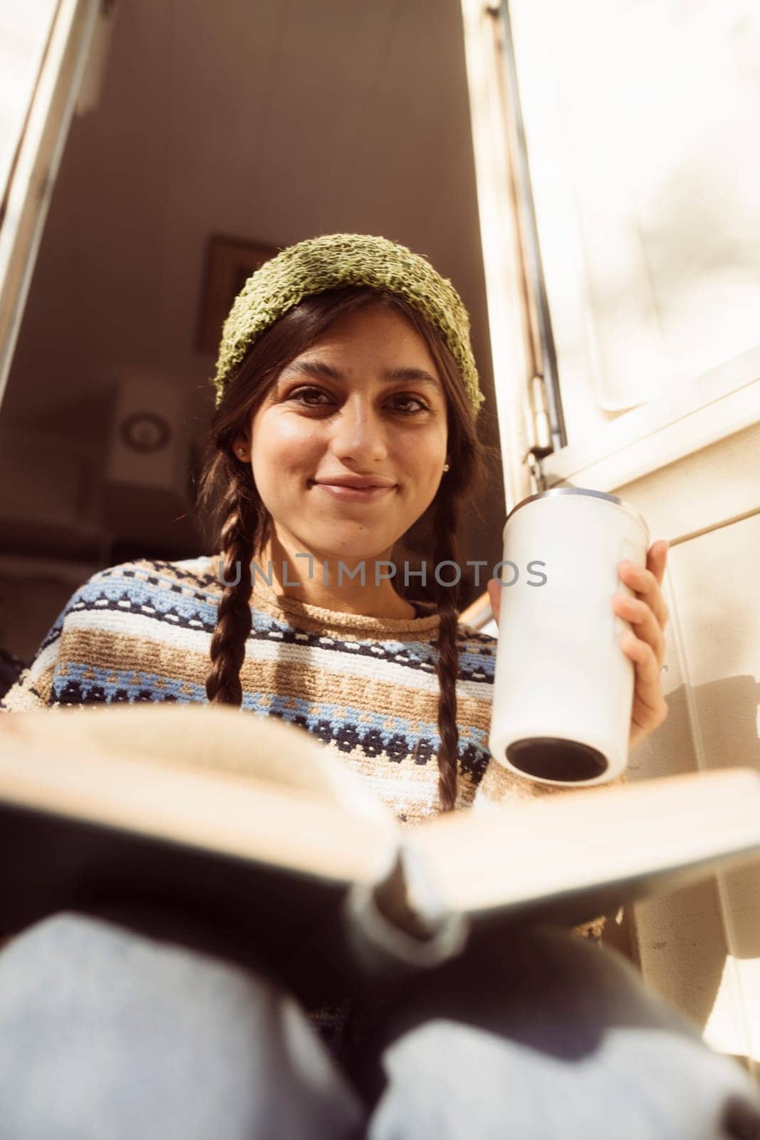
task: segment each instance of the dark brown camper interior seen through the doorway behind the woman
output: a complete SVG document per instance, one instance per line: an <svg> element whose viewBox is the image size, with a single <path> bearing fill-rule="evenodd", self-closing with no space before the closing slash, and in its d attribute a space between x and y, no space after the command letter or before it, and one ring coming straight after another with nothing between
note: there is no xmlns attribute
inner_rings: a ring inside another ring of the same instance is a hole
<svg viewBox="0 0 760 1140"><path fill-rule="evenodd" d="M129 0L113 19L0 408L0 649L24 661L96 570L207 552L193 480L214 235L367 233L425 253L469 310L498 443L458 0ZM123 440L145 414L170 426L157 454ZM500 557L504 515L499 473L461 521L463 562Z"/></svg>

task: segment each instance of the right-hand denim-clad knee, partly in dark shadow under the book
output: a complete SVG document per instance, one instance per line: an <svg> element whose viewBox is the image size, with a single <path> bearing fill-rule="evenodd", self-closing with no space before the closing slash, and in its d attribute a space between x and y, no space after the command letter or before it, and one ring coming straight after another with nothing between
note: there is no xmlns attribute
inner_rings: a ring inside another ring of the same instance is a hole
<svg viewBox="0 0 760 1140"><path fill-rule="evenodd" d="M760 1098L733 1060L652 994L634 967L562 930L534 929L404 986L352 1059L375 1105L369 1137L414 1116L440 1140L507 1131L724 1140ZM508 1126L508 1127L507 1127ZM410 1133L411 1134L411 1133Z"/></svg>

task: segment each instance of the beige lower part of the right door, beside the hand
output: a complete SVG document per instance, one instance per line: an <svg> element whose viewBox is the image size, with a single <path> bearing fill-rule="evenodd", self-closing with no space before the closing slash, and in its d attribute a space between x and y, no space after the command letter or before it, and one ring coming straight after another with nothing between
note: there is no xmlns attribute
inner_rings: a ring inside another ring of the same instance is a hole
<svg viewBox="0 0 760 1140"><path fill-rule="evenodd" d="M726 524L737 503L752 508L758 442L750 429L620 488L653 524L653 538L683 536L665 576L670 711L631 754L631 779L730 765L760 771L760 514ZM697 522L713 529L684 540ZM635 938L645 979L713 1048L760 1075L760 863L637 904Z"/></svg>

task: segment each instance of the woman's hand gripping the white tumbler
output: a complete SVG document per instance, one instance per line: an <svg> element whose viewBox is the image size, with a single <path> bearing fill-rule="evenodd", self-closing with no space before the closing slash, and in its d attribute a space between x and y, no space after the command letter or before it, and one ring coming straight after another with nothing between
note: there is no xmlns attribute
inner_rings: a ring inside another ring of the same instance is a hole
<svg viewBox="0 0 760 1140"><path fill-rule="evenodd" d="M629 748L640 744L668 716L668 705L660 683L660 668L665 657L664 628L668 624L668 608L660 586L667 561L668 543L660 538L647 551L646 570L627 561L618 565L619 578L636 595L612 596L614 612L634 626L634 630L627 629L620 637L620 646L631 658L636 669ZM488 594L497 626L501 589L501 584L491 578Z"/></svg>

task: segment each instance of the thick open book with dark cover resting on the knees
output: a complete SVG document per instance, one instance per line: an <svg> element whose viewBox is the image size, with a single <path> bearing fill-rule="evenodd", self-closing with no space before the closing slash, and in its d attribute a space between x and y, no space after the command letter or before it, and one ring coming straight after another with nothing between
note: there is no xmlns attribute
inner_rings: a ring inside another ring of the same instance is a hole
<svg viewBox="0 0 760 1140"><path fill-rule="evenodd" d="M182 912L190 938L223 938L304 1000L751 858L751 768L402 829L325 746L273 717L194 705L0 716L0 933L62 909Z"/></svg>

